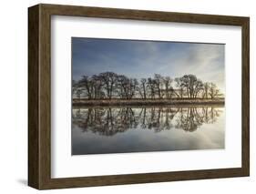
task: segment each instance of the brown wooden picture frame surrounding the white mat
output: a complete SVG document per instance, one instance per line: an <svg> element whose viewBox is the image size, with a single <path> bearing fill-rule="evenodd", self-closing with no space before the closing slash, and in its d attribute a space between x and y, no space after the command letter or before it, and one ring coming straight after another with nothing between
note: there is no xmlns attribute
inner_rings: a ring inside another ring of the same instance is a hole
<svg viewBox="0 0 256 194"><path fill-rule="evenodd" d="M241 26L242 31L242 153L241 168L94 177L51 178L51 16L87 16L145 21ZM249 17L198 15L99 8L35 5L28 8L28 185L61 189L189 179L243 177L250 174L250 20Z"/></svg>

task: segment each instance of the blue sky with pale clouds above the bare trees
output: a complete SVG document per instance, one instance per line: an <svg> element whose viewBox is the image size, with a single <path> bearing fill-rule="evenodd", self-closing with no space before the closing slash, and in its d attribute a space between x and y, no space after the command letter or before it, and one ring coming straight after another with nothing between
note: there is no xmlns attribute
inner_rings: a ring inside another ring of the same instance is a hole
<svg viewBox="0 0 256 194"><path fill-rule="evenodd" d="M132 78L193 74L225 93L225 45L72 37L72 77L112 71Z"/></svg>

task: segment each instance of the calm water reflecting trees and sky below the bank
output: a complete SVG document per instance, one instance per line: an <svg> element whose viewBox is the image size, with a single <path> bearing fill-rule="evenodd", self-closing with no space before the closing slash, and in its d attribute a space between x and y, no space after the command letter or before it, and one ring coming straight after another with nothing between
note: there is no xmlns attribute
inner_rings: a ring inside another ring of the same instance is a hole
<svg viewBox="0 0 256 194"><path fill-rule="evenodd" d="M224 148L224 107L73 107L72 155Z"/></svg>

